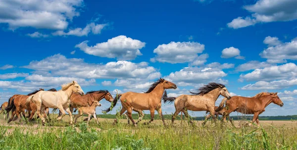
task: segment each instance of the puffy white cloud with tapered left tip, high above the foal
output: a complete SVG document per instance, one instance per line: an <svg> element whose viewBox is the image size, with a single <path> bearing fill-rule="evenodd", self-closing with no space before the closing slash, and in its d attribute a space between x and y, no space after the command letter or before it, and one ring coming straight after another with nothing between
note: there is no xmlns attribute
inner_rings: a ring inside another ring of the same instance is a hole
<svg viewBox="0 0 297 150"><path fill-rule="evenodd" d="M107 42L88 46L88 41L83 41L75 47L80 48L87 54L99 57L116 58L117 60L133 60L142 55L139 49L145 47L146 43L137 39L118 36L108 39Z"/></svg>

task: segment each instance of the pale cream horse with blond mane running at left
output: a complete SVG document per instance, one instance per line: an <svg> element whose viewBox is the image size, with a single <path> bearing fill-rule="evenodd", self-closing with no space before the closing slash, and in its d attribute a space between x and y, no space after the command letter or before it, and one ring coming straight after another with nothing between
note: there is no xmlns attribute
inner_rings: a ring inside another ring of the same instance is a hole
<svg viewBox="0 0 297 150"><path fill-rule="evenodd" d="M62 112L62 115L57 117L57 120L62 119L65 116L65 110L69 113L70 124L72 124L72 113L69 109L70 97L73 93L79 93L84 95L84 91L77 83L77 81L72 81L68 84L62 85L62 90L51 92L51 91L40 91L35 95L32 95L27 98L28 102L33 102L37 106L37 115L42 119L43 125L45 124L45 118L41 115L41 112L44 112L46 107L59 109Z"/></svg>

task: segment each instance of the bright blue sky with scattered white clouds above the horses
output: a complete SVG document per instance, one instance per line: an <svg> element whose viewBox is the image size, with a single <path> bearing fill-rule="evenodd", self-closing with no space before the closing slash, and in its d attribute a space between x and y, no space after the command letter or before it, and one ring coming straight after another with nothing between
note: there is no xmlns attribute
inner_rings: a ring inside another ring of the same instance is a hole
<svg viewBox="0 0 297 150"><path fill-rule="evenodd" d="M296 114L296 7L296 0L1 0L0 102L73 79L85 92L114 95L163 77L178 86L170 96L210 81L233 95L279 92L284 107L271 104L261 115ZM109 106L100 102L98 112Z"/></svg>

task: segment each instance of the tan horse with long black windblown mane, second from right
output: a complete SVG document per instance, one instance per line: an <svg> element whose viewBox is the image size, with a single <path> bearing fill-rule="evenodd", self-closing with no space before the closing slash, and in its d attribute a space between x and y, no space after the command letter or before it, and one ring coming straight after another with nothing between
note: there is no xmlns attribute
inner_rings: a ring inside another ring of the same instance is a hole
<svg viewBox="0 0 297 150"><path fill-rule="evenodd" d="M223 84L211 82L203 87L198 89L197 93L193 93L194 95L180 95L176 98L170 97L168 98L166 94L163 96L163 100L166 103L167 101L174 102L175 112L172 115L172 124L176 115L179 112L184 112L185 116L189 118L188 110L190 111L209 111L213 118L215 118L214 105L215 101L218 99L220 95L230 99L231 95L229 94L227 88ZM192 121L190 120L192 123ZM206 121L203 123L205 124Z"/></svg>

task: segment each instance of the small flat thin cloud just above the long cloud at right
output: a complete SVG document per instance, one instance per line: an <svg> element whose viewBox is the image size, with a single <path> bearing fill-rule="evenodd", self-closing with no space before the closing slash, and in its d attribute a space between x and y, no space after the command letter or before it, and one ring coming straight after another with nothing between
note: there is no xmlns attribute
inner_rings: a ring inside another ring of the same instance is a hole
<svg viewBox="0 0 297 150"><path fill-rule="evenodd" d="M238 72L244 72L254 69L260 69L265 67L271 67L272 65L270 63L266 62L259 62L259 61L248 61L245 64L241 64L236 68L236 71Z"/></svg>

